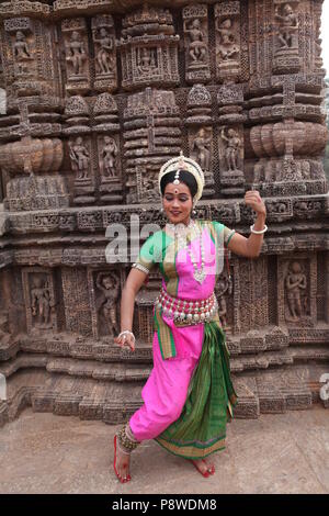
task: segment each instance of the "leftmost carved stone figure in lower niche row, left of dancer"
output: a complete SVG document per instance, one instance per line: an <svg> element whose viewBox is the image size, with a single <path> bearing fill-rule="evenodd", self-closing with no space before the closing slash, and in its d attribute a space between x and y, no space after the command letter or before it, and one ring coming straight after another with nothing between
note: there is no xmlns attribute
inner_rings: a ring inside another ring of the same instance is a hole
<svg viewBox="0 0 329 516"><path fill-rule="evenodd" d="M52 327L50 310L53 306L48 282L44 283L43 278L36 276L31 289L31 307L32 315L35 317L35 326Z"/></svg>

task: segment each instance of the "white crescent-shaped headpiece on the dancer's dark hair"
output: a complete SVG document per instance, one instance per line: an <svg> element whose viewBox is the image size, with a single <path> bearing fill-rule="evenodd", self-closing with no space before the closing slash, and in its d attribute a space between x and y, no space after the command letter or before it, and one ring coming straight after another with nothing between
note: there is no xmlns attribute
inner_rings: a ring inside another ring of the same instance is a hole
<svg viewBox="0 0 329 516"><path fill-rule="evenodd" d="M180 156L178 156L177 158L169 159L169 161L162 165L160 169L160 173L159 173L160 194L161 194L161 179L163 178L163 176L166 176L169 172L174 171L175 175L174 175L173 184L179 184L180 183L180 170L186 170L194 177L196 181L197 191L193 198L193 205L195 205L195 203L202 197L203 187L204 187L204 175L200 165L196 161L194 161L194 159L186 158L183 155L182 150L181 150Z"/></svg>

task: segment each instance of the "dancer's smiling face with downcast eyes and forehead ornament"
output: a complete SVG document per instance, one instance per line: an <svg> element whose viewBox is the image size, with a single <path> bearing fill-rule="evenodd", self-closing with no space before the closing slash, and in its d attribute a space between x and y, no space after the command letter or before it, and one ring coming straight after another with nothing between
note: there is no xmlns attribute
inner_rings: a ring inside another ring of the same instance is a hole
<svg viewBox="0 0 329 516"><path fill-rule="evenodd" d="M189 224L193 201L190 189L184 182L168 183L162 200L163 210L171 224Z"/></svg>

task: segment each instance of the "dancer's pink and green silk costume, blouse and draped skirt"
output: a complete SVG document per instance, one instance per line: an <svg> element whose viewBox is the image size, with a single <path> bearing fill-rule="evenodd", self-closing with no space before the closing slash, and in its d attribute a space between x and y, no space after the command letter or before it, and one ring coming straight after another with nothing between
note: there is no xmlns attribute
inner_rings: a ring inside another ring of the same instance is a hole
<svg viewBox="0 0 329 516"><path fill-rule="evenodd" d="M182 248L166 231L151 235L134 267L149 272L158 265L164 292L201 304L214 293L216 260L235 231L217 222L196 224L200 234L188 237ZM195 263L201 267L201 238L207 265L202 282L194 274ZM174 321L156 304L154 315L154 369L141 391L144 404L129 426L139 441L156 439L174 455L204 458L225 448L226 424L238 401L218 312L212 321L191 324Z"/></svg>

